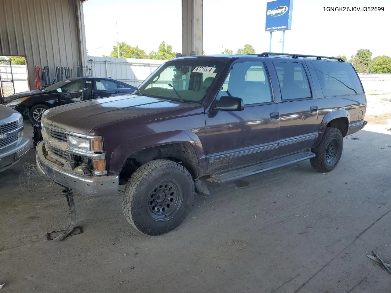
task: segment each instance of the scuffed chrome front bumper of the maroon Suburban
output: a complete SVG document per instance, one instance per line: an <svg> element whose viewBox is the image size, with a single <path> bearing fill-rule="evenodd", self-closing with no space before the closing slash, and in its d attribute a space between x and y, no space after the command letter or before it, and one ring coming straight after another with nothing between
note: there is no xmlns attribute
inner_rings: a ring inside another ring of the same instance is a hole
<svg viewBox="0 0 391 293"><path fill-rule="evenodd" d="M118 175L85 176L63 170L60 165L45 158L43 141L39 141L35 154L39 172L61 186L93 198L117 194Z"/></svg>

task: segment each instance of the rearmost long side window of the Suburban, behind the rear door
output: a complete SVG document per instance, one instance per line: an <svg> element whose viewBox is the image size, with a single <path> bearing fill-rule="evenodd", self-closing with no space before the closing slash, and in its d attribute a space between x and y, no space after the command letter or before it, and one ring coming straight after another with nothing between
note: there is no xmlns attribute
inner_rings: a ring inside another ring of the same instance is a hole
<svg viewBox="0 0 391 293"><path fill-rule="evenodd" d="M344 96L364 93L359 77L350 63L311 61L319 78L323 96Z"/></svg>

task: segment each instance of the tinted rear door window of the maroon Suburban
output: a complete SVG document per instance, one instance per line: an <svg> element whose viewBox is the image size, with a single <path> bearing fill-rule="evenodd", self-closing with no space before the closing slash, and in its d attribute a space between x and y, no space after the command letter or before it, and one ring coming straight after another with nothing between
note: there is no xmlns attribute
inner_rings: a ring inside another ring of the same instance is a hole
<svg viewBox="0 0 391 293"><path fill-rule="evenodd" d="M312 97L303 64L298 62L273 62L273 64L276 68L282 100Z"/></svg>

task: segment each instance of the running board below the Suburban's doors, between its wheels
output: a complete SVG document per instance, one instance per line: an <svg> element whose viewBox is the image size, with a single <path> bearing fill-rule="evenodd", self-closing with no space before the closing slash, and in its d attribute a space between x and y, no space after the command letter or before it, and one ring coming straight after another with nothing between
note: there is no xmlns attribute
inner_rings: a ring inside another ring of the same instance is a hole
<svg viewBox="0 0 391 293"><path fill-rule="evenodd" d="M289 164L304 161L304 160L311 159L314 157L315 157L315 154L311 153L311 152L294 153L291 155L286 155L284 157L278 157L278 158L271 159L269 161L265 161L265 162L251 165L251 166L236 168L236 169L233 169L230 171L225 171L225 172L217 172L217 173L211 175L211 177L208 178L207 180L209 182L218 182L218 183L227 182L227 181L236 180L236 179L239 179L242 177L254 175L257 173L265 172L268 170L287 166Z"/></svg>

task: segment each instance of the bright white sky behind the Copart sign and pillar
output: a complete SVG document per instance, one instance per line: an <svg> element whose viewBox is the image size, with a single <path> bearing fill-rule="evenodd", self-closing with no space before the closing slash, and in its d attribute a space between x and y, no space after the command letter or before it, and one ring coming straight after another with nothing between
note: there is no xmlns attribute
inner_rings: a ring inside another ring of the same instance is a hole
<svg viewBox="0 0 391 293"><path fill-rule="evenodd" d="M145 50L161 41L181 52L181 0L88 0L84 25L88 55L109 55L118 40ZM265 32L267 0L203 0L203 50L236 53L251 44L269 51ZM384 7L383 12L328 12L323 7ZM346 55L369 49L372 57L391 56L391 0L293 0L292 27L285 31L285 53ZM118 28L118 29L117 29ZM282 32L273 32L272 52L282 50Z"/></svg>

